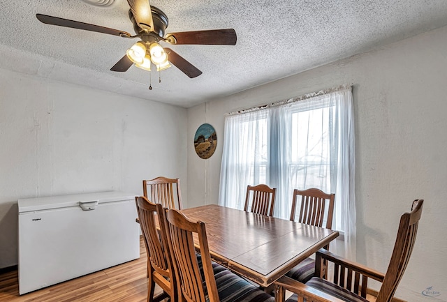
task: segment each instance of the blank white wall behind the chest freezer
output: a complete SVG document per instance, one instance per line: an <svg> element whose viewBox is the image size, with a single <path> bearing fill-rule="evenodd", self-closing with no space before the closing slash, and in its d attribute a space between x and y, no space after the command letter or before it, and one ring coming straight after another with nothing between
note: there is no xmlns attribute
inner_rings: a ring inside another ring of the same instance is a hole
<svg viewBox="0 0 447 302"><path fill-rule="evenodd" d="M0 69L0 268L17 264L17 199L186 181L186 110Z"/></svg>

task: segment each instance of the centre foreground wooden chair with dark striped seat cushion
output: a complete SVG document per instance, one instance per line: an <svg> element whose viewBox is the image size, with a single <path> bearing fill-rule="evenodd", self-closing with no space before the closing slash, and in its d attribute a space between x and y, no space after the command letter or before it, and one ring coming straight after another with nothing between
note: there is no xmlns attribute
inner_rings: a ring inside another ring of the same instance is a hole
<svg viewBox="0 0 447 302"><path fill-rule="evenodd" d="M175 274L179 282L179 301L188 302L273 302L269 294L247 280L211 262L205 223L193 222L177 210L169 210L166 229ZM193 236L197 236L200 255L196 255ZM205 285L205 286L204 286Z"/></svg>

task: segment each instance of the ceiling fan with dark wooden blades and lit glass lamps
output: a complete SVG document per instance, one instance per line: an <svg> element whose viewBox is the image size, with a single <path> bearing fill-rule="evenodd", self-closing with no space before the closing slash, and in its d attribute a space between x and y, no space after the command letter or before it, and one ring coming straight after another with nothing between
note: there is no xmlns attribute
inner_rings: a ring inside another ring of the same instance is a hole
<svg viewBox="0 0 447 302"><path fill-rule="evenodd" d="M205 31L182 31L178 33L166 33L168 17L159 8L150 6L149 0L127 0L130 6L129 18L133 23L135 35L126 31L110 29L94 24L67 20L49 15L36 14L39 21L45 24L58 25L60 27L71 27L73 29L84 29L98 33L108 33L122 38L139 38L112 71L124 72L134 63L138 68L150 70L156 66L157 70L170 67L170 63L182 70L188 77L198 77L202 71L198 70L189 61L168 47L161 47L160 42L194 45L235 45L236 32L234 29L212 29ZM152 63L152 64L151 64Z"/></svg>

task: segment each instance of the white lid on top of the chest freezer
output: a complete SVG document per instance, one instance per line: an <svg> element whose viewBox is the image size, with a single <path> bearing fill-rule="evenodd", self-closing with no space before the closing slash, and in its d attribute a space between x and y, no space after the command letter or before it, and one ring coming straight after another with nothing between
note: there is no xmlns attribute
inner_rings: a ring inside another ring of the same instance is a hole
<svg viewBox="0 0 447 302"><path fill-rule="evenodd" d="M134 200L138 194L131 194L127 192L97 192L87 194L75 195L59 195L49 197L37 197L18 199L19 213L27 213L32 211L42 211L49 209L61 209L70 206L80 206L85 202L98 201L98 204L106 202L119 202L123 200Z"/></svg>

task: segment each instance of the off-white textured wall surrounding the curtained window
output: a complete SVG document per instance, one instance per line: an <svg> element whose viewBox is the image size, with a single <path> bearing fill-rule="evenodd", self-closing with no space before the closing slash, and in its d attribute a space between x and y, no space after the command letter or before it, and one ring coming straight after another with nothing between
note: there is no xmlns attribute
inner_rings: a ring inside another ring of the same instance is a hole
<svg viewBox="0 0 447 302"><path fill-rule="evenodd" d="M243 63L243 62L241 62ZM396 296L447 301L447 27L188 110L188 137L217 130L210 160L188 145L190 205L217 203L226 112L353 84L357 260L385 272L400 215L425 199L416 247ZM205 193L204 193L205 192ZM440 292L427 298L427 287Z"/></svg>

